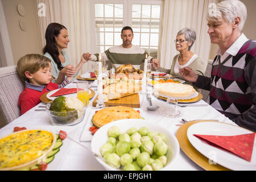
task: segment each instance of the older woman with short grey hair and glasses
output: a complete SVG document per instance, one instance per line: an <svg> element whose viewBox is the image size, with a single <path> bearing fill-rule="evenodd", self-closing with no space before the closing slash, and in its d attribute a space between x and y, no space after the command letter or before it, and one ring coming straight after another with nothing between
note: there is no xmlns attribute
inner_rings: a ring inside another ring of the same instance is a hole
<svg viewBox="0 0 256 182"><path fill-rule="evenodd" d="M157 71L170 73L172 76L179 76L179 78L183 78L179 73L179 68L189 67L197 74L203 75L205 70L203 61L199 56L190 51L195 40L196 32L192 28L183 28L177 32L174 43L176 44L176 50L180 53L174 56L171 69L158 68Z"/></svg>

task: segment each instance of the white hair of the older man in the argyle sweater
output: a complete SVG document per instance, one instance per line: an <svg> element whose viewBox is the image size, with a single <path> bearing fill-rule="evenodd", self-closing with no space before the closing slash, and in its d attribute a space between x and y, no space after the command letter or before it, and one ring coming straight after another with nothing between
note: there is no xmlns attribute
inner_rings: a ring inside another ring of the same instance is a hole
<svg viewBox="0 0 256 182"><path fill-rule="evenodd" d="M241 31L247 17L246 6L238 0L226 0L216 5L211 4L207 14L207 20L225 19L228 23L233 22L237 16L240 16L241 22L238 29Z"/></svg>

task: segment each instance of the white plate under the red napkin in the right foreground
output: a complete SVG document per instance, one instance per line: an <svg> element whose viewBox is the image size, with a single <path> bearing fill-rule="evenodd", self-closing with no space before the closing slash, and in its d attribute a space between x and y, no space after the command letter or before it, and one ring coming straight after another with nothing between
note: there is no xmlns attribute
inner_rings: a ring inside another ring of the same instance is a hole
<svg viewBox="0 0 256 182"><path fill-rule="evenodd" d="M221 150L219 148L210 146L207 143L202 142L199 138L193 134L200 135L221 135L232 136L250 134L252 131L243 129L242 127L229 125L221 122L200 122L191 125L188 128L187 136L189 142L196 148L201 154L209 159L209 162L215 162L226 168L242 171L242 170L256 170L256 140L254 140L253 153L251 155L251 162L240 158L239 156ZM213 164L214 165L214 164Z"/></svg>

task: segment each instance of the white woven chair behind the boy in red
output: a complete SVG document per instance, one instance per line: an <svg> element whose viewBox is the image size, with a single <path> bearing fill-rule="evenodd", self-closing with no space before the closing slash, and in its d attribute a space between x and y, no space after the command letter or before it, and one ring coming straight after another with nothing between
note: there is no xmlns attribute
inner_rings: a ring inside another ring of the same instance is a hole
<svg viewBox="0 0 256 182"><path fill-rule="evenodd" d="M18 75L16 65L0 68L0 112L7 125L20 115L18 105L19 94L24 89L24 84Z"/></svg>

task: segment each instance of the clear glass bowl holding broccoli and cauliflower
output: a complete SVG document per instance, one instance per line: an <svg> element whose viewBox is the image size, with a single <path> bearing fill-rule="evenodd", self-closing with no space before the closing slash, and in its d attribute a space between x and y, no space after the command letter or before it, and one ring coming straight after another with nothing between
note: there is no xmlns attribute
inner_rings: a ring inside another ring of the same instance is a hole
<svg viewBox="0 0 256 182"><path fill-rule="evenodd" d="M59 96L48 102L46 112L52 125L76 125L84 119L87 102L83 98Z"/></svg>

